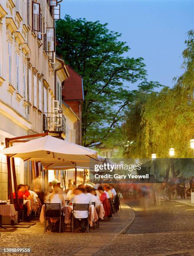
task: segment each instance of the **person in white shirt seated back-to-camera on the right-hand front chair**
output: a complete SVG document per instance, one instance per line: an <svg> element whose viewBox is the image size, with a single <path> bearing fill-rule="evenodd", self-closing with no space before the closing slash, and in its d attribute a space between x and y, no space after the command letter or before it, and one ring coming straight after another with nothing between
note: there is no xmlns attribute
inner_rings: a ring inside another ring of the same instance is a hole
<svg viewBox="0 0 194 256"><path fill-rule="evenodd" d="M73 203L74 204L89 204L91 205L91 199L87 195L85 195L85 188L84 187L78 187L75 189L75 197L73 198ZM80 211L80 210L75 210L74 211L74 223L76 229L74 230L75 232L82 232L84 233L86 230L86 223L87 223L87 218L88 218L88 211Z"/></svg>

